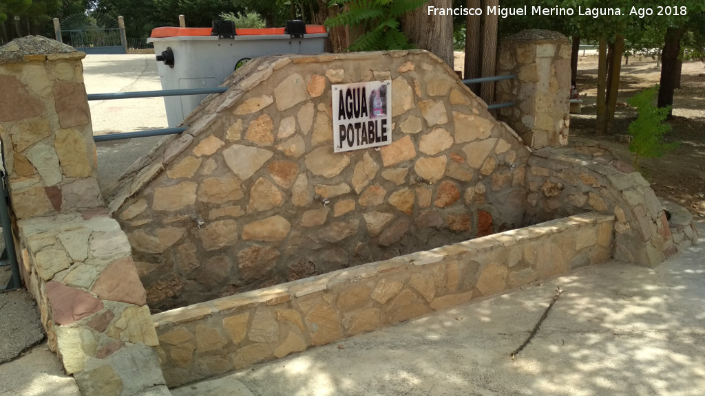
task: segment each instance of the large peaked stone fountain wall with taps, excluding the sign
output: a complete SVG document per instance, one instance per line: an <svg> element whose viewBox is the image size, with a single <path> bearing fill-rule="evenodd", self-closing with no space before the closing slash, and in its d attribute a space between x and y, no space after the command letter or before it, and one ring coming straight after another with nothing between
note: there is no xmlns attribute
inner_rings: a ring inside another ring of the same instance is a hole
<svg viewBox="0 0 705 396"><path fill-rule="evenodd" d="M393 143L333 154L331 85L369 80L392 81ZM152 307L522 225L529 149L426 51L259 58L224 85L109 198Z"/></svg>

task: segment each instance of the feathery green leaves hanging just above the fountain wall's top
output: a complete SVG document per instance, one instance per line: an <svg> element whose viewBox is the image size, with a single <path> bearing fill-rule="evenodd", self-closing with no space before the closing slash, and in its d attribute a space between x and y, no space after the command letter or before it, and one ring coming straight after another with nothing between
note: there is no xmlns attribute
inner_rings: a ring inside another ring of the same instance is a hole
<svg viewBox="0 0 705 396"><path fill-rule="evenodd" d="M399 18L423 4L424 0L331 0L329 6L343 11L326 20L326 27L362 26L362 34L348 51L410 49L412 44L400 31Z"/></svg>

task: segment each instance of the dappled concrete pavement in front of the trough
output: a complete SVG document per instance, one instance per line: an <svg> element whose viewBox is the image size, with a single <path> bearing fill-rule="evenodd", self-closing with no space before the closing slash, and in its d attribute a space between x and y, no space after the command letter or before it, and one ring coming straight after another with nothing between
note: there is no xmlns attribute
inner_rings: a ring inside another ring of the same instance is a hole
<svg viewBox="0 0 705 396"><path fill-rule="evenodd" d="M655 269L615 261L582 268L259 364L223 377L227 385L185 386L178 396L231 395L225 386L238 381L258 396L701 396L705 223L698 228L699 246ZM536 337L511 359L558 286L564 292Z"/></svg>

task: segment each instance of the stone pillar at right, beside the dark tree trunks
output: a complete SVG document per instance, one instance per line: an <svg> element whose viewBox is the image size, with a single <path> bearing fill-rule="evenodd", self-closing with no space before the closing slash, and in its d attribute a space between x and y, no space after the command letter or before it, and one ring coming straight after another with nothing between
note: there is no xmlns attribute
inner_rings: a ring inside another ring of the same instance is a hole
<svg viewBox="0 0 705 396"><path fill-rule="evenodd" d="M523 30L501 43L496 100L514 101L499 110L505 121L533 149L568 144L570 125L570 42L558 32Z"/></svg>

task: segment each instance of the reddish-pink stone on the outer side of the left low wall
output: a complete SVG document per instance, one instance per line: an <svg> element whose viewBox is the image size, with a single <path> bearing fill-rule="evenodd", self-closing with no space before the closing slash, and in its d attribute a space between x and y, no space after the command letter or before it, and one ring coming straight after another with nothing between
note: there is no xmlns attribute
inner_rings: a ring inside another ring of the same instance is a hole
<svg viewBox="0 0 705 396"><path fill-rule="evenodd" d="M53 281L47 282L47 298L58 325L70 325L103 309L103 302L89 292Z"/></svg>

